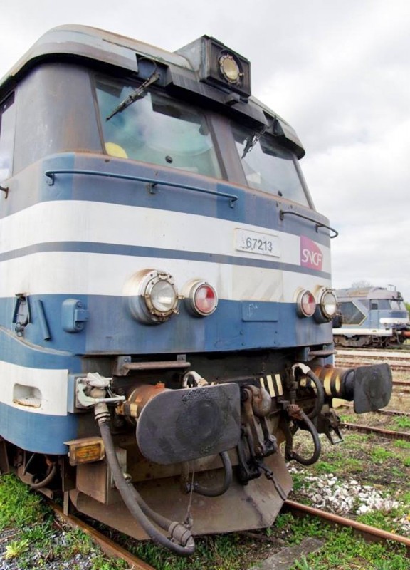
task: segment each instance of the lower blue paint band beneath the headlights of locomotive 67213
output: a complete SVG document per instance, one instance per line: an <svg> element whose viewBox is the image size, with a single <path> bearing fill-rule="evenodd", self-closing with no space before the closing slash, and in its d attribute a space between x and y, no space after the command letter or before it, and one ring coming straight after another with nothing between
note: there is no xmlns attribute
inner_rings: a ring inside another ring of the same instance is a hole
<svg viewBox="0 0 410 570"><path fill-rule="evenodd" d="M314 318L300 318L291 303L220 300L214 314L197 318L186 310L182 302L179 315L166 323L145 325L132 318L126 298L100 295L81 297L88 309L88 321L83 331L68 333L61 326L61 307L70 297L73 296L41 296L45 312L50 316L50 341L43 339L36 305L32 303L32 322L24 331L25 341L38 345L38 348L63 349L68 354L238 351L332 342L331 323L319 325ZM38 296L33 296L32 300L36 299ZM9 305L7 301L0 299L2 320L6 312L4 307ZM10 318L9 314L9 322ZM62 363L67 363L70 371L80 370L77 358L56 356L48 351L34 351L33 348L29 351L28 346L15 336L8 336L8 341L13 342L14 347L4 354L14 354L18 347L18 354L14 356L16 363L24 361L26 366L43 368L65 368ZM33 359L38 364L32 364ZM52 361L61 365L51 366Z"/></svg>

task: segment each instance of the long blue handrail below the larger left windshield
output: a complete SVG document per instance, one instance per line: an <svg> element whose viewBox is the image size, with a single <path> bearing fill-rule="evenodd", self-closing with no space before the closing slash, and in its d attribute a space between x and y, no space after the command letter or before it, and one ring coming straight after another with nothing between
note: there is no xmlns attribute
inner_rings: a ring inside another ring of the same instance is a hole
<svg viewBox="0 0 410 570"><path fill-rule="evenodd" d="M46 172L44 172L44 175L46 176L47 184L49 186L53 186L55 176L60 174L83 174L90 176L102 176L105 178L117 178L120 180L134 180L135 182L147 182L147 189L151 194L155 194L155 187L157 185L184 188L184 190L194 190L194 192L204 192L204 194L211 194L214 196L222 196L228 198L229 206L231 208L233 208L236 200L238 199L238 196L234 194L228 194L227 192L218 192L218 190L209 190L207 188L200 188L197 186L191 186L189 184L181 184L180 182L169 182L169 180L157 180L156 178L144 178L142 176L117 174L115 172L101 172L100 170L75 170L75 169L46 170Z"/></svg>

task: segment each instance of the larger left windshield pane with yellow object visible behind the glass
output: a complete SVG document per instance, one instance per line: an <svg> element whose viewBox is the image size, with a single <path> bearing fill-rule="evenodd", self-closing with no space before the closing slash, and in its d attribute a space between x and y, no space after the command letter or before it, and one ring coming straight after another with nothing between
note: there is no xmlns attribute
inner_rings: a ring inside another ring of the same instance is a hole
<svg viewBox="0 0 410 570"><path fill-rule="evenodd" d="M99 78L97 98L107 154L221 178L204 115L159 93L145 92L109 120L135 86Z"/></svg>

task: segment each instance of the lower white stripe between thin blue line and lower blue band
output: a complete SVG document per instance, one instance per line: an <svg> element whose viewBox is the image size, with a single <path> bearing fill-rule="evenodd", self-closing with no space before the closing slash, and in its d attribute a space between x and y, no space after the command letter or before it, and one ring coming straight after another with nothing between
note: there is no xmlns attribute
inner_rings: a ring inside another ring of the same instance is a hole
<svg viewBox="0 0 410 570"><path fill-rule="evenodd" d="M23 264L18 258L3 261L1 266L7 275L0 281L1 297L21 292L123 296L127 280L142 269L169 272L179 291L192 279L205 279L216 287L219 299L231 301L293 303L301 282L304 289L330 286L330 280L279 269L79 252L30 254Z"/></svg>

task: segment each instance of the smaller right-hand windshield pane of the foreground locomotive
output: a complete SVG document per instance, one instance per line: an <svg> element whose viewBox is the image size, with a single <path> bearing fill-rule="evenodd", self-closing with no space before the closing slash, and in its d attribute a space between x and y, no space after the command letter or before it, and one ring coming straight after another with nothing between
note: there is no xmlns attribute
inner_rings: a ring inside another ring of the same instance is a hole
<svg viewBox="0 0 410 570"><path fill-rule="evenodd" d="M249 186L309 206L293 152L276 144L268 133L249 147L258 133L236 124L232 130Z"/></svg>

